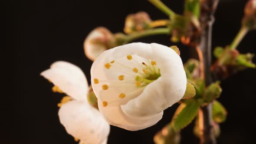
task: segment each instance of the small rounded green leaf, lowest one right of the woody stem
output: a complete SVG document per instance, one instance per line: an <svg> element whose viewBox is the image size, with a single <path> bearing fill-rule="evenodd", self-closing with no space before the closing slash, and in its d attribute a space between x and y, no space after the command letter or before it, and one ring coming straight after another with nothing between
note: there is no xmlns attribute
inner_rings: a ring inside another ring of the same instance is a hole
<svg viewBox="0 0 256 144"><path fill-rule="evenodd" d="M221 103L219 101L213 101L213 112L212 112L212 116L213 116L213 121L217 122L217 123L221 123L224 122L226 120L226 109L223 107L223 105L221 105Z"/></svg>

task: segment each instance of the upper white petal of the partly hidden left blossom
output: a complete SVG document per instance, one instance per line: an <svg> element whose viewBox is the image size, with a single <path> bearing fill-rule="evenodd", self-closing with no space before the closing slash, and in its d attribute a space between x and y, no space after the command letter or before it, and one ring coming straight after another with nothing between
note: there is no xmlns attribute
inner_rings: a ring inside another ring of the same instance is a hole
<svg viewBox="0 0 256 144"><path fill-rule="evenodd" d="M80 101L86 100L89 90L88 82L82 70L69 62L54 62L50 69L43 71L40 75L49 79L63 92Z"/></svg>

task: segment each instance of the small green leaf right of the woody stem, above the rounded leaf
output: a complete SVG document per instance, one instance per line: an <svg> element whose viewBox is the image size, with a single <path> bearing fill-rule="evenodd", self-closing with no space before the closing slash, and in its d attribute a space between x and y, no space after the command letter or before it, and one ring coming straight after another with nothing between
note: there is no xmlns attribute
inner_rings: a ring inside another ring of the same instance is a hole
<svg viewBox="0 0 256 144"><path fill-rule="evenodd" d="M203 93L203 100L205 102L211 102L215 98L220 96L222 89L220 88L219 82L210 84Z"/></svg>

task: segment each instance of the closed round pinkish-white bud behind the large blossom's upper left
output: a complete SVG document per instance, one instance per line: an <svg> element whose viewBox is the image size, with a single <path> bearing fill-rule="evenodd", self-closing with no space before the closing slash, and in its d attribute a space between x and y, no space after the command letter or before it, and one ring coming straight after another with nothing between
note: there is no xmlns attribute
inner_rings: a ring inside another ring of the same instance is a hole
<svg viewBox="0 0 256 144"><path fill-rule="evenodd" d="M85 55L94 61L102 52L112 48L114 41L115 38L108 29L97 27L85 39Z"/></svg>

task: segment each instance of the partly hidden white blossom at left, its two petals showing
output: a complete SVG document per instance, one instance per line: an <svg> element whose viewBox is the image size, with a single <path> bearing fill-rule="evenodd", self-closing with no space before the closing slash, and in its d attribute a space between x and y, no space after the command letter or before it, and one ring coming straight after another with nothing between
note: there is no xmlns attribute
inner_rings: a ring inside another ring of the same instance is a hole
<svg viewBox="0 0 256 144"><path fill-rule="evenodd" d="M59 108L59 121L67 133L78 138L81 144L106 144L110 126L87 102L89 87L82 70L69 62L59 61L41 75L71 97Z"/></svg>

